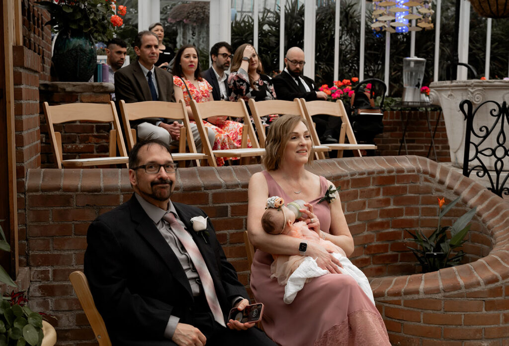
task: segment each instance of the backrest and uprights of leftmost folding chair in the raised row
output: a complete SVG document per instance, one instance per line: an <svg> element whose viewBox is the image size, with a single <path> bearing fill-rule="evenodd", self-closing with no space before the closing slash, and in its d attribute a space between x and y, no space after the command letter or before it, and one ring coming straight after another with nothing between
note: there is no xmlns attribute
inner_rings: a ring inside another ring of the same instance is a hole
<svg viewBox="0 0 509 346"><path fill-rule="evenodd" d="M53 124L74 121L111 122L113 130L110 131L109 156L115 156L117 145L120 156L127 156L124 139L120 127L115 103L67 103L50 106L43 103L44 116L48 126L48 134L55 154L55 162L58 168L62 168L62 135L54 130Z"/></svg>

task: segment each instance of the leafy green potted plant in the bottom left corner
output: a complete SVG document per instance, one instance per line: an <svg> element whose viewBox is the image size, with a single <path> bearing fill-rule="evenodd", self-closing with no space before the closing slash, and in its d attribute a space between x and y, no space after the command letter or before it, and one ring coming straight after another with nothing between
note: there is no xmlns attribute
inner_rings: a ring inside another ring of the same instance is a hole
<svg viewBox="0 0 509 346"><path fill-rule="evenodd" d="M0 250L11 251L2 227L0 227L0 236L2 237L0 239ZM1 265L0 282L17 287ZM36 346L43 344L42 316L26 306L27 301L24 292L14 293L13 291L11 295L3 295L0 302L0 346L23 346L27 344ZM52 337L56 341L56 337ZM54 344L54 342L50 344Z"/></svg>

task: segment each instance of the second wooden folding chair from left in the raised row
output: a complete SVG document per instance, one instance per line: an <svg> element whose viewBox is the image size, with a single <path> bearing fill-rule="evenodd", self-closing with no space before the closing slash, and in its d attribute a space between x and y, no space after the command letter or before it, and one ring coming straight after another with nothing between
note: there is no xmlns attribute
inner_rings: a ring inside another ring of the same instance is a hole
<svg viewBox="0 0 509 346"><path fill-rule="evenodd" d="M182 120L184 127L180 129L179 151L172 153L174 161L195 160L196 165L200 166L199 160L209 159L207 154L196 152L196 146L192 138L189 118L187 117L187 110L183 100L179 102L143 101L134 103L126 103L124 100L120 100L120 113L122 114L122 121L126 129L127 146L129 150L136 144L136 130L131 128L130 121L154 117L175 119ZM186 152L186 142L189 152Z"/></svg>

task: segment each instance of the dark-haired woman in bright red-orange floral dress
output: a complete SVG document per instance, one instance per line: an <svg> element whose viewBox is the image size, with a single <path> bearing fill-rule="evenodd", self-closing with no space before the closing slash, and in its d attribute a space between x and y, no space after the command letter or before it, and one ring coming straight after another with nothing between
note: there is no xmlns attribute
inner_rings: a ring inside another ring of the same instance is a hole
<svg viewBox="0 0 509 346"><path fill-rule="evenodd" d="M180 47L175 57L172 67L173 88L175 100L184 100L186 103L187 114L191 122L194 122L194 116L189 106L191 99L196 102L213 101L212 86L202 78L200 69L198 50L192 44L186 44ZM242 145L242 124L236 121L227 120L226 117L210 117L203 121L207 131L213 131L215 134L212 150L237 149ZM211 142L212 143L212 142ZM251 147L248 140L247 146ZM237 157L231 159L238 159ZM216 158L218 166L224 165L222 157Z"/></svg>

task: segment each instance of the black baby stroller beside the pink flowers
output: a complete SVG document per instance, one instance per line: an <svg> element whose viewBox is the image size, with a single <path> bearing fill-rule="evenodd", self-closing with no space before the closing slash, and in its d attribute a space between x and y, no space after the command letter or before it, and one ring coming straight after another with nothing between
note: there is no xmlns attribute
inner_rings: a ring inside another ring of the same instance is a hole
<svg viewBox="0 0 509 346"><path fill-rule="evenodd" d="M375 144L375 136L383 132L384 100L387 86L378 78L368 78L354 89L350 102L350 123L357 143ZM380 105L375 105L381 96ZM374 153L371 153L372 155Z"/></svg>

